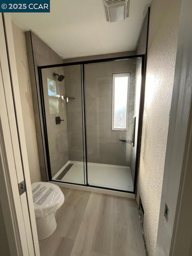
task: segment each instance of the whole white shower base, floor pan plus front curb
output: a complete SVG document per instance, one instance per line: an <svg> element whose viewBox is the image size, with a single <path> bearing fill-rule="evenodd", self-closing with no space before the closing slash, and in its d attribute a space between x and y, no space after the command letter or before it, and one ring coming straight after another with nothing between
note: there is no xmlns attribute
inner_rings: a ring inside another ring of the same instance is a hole
<svg viewBox="0 0 192 256"><path fill-rule="evenodd" d="M67 167L68 164L73 166L68 170L64 177L57 182L58 175ZM84 163L78 161L68 161L59 171L52 177L52 183L58 184L60 187L74 188L84 191L91 191L103 194L110 194L121 197L135 198L133 193L124 191L133 191L134 185L131 176L130 167L110 165L110 164L97 164L87 163L88 184L84 185ZM85 172L86 178L86 172ZM77 183L77 184L69 184ZM86 179L85 179L86 182ZM82 184L82 185L80 185ZM91 186L98 186L95 188ZM108 189L105 189L108 188ZM115 189L115 190L112 190ZM116 191L122 190L122 191Z"/></svg>

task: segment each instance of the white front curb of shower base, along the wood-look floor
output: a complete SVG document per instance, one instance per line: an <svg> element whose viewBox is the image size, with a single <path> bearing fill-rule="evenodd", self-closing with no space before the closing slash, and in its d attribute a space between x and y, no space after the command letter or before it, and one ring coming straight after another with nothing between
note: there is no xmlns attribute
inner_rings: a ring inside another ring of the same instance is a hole
<svg viewBox="0 0 192 256"><path fill-rule="evenodd" d="M115 191L115 190L110 190L110 189L103 189L103 188L93 188L93 187L74 185L74 184L68 184L68 183L62 183L62 182L56 182L56 181L50 181L50 182L53 184L56 184L62 188L72 188L72 189L77 189L77 190L83 190L83 191L101 193L101 194L106 194L106 195L135 199L135 194L132 194L132 193Z"/></svg>

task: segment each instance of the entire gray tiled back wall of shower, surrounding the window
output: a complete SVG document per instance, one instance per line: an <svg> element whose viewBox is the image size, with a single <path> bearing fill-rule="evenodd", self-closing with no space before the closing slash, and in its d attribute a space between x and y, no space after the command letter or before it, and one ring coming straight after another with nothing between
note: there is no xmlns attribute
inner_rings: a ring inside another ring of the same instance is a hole
<svg viewBox="0 0 192 256"><path fill-rule="evenodd" d="M78 59L77 59L78 61ZM136 60L85 65L86 134L88 161L102 164L130 165L135 93ZM126 131L111 131L112 74L131 72L129 97L129 127ZM83 161L83 124L81 67L64 67L69 160Z"/></svg>

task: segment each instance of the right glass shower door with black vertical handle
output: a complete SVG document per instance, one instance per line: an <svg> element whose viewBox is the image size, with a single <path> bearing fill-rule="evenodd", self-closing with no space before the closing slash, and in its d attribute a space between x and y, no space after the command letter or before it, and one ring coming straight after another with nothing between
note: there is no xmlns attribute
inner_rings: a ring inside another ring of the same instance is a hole
<svg viewBox="0 0 192 256"><path fill-rule="evenodd" d="M141 59L85 65L90 186L134 191Z"/></svg>

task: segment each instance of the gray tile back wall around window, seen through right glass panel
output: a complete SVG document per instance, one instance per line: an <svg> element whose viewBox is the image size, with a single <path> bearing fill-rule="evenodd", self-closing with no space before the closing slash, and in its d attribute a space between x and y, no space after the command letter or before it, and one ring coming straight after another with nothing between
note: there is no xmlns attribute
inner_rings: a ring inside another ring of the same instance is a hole
<svg viewBox="0 0 192 256"><path fill-rule="evenodd" d="M135 93L135 64L130 59L85 65L88 162L130 166ZM128 131L112 131L112 74L131 73Z"/></svg>

